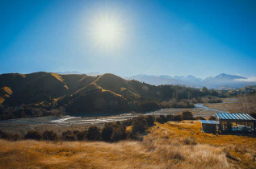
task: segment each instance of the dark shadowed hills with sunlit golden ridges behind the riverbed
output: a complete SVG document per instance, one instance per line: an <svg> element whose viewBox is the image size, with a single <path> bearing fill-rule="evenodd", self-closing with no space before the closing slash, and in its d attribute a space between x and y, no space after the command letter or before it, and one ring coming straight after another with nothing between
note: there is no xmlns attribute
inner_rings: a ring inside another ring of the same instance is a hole
<svg viewBox="0 0 256 169"><path fill-rule="evenodd" d="M12 93L2 94L3 105L47 105L64 107L69 114L120 113L159 109L161 101L171 98L199 97L199 89L174 85L149 85L136 80L124 80L110 73L101 76L85 74L60 75L52 72L31 74L10 73L0 75L0 89ZM1 103L0 103L1 104Z"/></svg>

